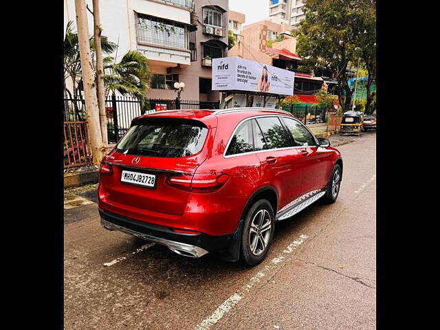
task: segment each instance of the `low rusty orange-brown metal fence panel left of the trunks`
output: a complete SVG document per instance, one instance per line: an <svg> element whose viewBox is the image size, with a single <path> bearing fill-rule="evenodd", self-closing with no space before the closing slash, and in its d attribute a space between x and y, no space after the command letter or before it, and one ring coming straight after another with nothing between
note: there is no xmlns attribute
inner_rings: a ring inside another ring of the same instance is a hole
<svg viewBox="0 0 440 330"><path fill-rule="evenodd" d="M87 121L64 122L64 168L91 164Z"/></svg>

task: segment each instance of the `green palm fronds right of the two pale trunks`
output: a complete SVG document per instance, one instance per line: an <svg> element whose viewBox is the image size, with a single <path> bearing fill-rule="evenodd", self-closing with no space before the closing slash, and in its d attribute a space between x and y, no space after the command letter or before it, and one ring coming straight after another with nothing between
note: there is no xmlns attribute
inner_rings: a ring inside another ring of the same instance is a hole
<svg viewBox="0 0 440 330"><path fill-rule="evenodd" d="M119 63L112 57L104 58L104 85L106 96L118 91L123 96L130 95L140 100L141 111L149 110L146 92L150 85L151 74L148 59L137 50L129 50Z"/></svg>

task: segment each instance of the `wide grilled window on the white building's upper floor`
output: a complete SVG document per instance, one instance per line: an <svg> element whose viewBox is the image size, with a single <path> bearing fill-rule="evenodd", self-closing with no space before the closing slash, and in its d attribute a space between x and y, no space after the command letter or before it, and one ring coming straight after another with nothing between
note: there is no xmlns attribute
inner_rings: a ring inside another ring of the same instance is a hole
<svg viewBox="0 0 440 330"><path fill-rule="evenodd" d="M137 41L189 50L189 31L186 25L139 14Z"/></svg>

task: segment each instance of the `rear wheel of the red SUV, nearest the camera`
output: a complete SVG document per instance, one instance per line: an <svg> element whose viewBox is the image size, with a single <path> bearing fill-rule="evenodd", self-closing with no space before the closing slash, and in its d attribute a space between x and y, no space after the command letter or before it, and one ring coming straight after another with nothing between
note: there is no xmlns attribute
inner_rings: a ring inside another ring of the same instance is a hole
<svg viewBox="0 0 440 330"><path fill-rule="evenodd" d="M267 199L256 201L245 215L241 234L241 256L244 263L258 265L266 257L274 237L274 209Z"/></svg>

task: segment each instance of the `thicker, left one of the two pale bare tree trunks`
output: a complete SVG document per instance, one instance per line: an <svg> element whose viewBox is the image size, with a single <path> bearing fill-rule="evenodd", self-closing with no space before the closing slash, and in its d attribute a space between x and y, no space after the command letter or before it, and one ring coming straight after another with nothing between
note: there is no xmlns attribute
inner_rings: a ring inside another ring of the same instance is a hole
<svg viewBox="0 0 440 330"><path fill-rule="evenodd" d="M102 144L99 122L98 98L96 97L95 73L91 62L89 31L85 0L75 0L76 26L78 28L78 43L80 45L81 68L83 71L83 86L87 109L87 126L89 127L91 154L94 164L99 166L105 151Z"/></svg>

